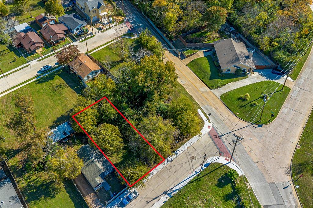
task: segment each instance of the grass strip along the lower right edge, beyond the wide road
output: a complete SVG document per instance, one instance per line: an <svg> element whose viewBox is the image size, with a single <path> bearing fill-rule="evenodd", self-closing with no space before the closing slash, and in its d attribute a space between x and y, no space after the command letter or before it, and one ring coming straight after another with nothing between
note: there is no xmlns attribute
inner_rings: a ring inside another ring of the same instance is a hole
<svg viewBox="0 0 313 208"><path fill-rule="evenodd" d="M297 188L300 201L303 207L313 206L313 190L312 190L312 178L313 178L313 164L312 164L312 138L313 138L313 118L312 112L309 120L305 125L305 129L300 138L300 149L295 151L295 155L292 159L292 176L295 180L295 186ZM299 176L303 174L302 178ZM299 178L299 180L297 180Z"/></svg>

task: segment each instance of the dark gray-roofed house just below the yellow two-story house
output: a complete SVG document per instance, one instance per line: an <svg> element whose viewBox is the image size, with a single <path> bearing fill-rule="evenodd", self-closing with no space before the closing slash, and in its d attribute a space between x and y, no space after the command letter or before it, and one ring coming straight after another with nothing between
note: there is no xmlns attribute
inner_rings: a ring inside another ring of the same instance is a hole
<svg viewBox="0 0 313 208"><path fill-rule="evenodd" d="M80 17L74 13L65 14L58 18L60 23L63 23L65 27L69 29L69 31L73 34L80 31L80 29L87 25L87 23L83 20L80 20Z"/></svg>

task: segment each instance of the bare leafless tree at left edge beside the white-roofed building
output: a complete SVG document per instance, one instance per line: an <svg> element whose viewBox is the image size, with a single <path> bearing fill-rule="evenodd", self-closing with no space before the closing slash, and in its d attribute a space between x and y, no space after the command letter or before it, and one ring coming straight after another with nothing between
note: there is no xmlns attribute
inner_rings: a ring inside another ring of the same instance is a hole
<svg viewBox="0 0 313 208"><path fill-rule="evenodd" d="M16 38L17 31L13 29L19 22L15 18L5 16L0 19L0 41L7 44L13 45L14 39Z"/></svg>

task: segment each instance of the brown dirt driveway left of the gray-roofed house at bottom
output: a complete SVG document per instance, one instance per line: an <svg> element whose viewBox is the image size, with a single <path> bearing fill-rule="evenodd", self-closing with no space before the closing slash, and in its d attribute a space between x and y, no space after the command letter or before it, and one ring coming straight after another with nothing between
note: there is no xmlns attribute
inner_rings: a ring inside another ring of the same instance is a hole
<svg viewBox="0 0 313 208"><path fill-rule="evenodd" d="M75 178L74 182L91 208L100 208L105 206L100 202L97 194L93 188L91 188L83 174L80 174L77 178Z"/></svg>

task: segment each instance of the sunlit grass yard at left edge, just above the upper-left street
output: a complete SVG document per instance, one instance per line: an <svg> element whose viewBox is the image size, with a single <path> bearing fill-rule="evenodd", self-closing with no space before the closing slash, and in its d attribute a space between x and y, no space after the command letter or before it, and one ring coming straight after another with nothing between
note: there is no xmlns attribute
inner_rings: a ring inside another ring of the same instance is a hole
<svg viewBox="0 0 313 208"><path fill-rule="evenodd" d="M17 57L16 61L14 57ZM0 67L3 73L27 63L22 54L12 46L0 44Z"/></svg>

